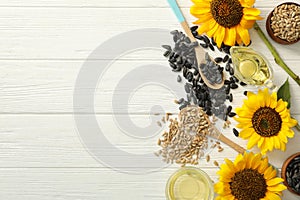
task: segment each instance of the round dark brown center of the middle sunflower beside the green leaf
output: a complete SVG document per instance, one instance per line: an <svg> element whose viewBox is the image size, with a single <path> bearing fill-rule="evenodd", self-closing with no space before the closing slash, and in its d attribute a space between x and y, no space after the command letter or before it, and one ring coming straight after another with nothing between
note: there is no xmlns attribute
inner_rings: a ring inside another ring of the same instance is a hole
<svg viewBox="0 0 300 200"><path fill-rule="evenodd" d="M282 120L278 112L270 107L260 107L252 117L255 132L263 137L275 136L281 129Z"/></svg>

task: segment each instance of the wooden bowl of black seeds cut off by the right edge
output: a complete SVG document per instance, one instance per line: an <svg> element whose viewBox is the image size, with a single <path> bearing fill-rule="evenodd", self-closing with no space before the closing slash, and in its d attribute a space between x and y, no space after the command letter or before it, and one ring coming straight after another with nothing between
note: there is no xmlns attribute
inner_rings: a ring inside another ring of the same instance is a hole
<svg viewBox="0 0 300 200"><path fill-rule="evenodd" d="M300 196L300 152L293 154L283 163L281 177L288 190Z"/></svg>

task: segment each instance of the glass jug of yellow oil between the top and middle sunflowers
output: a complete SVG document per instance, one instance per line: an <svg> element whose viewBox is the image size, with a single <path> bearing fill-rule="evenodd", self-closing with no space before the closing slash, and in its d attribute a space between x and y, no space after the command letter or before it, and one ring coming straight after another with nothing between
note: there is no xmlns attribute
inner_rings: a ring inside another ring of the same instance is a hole
<svg viewBox="0 0 300 200"><path fill-rule="evenodd" d="M241 81L257 86L266 86L276 91L273 70L267 59L249 47L233 46L230 49L234 74Z"/></svg>

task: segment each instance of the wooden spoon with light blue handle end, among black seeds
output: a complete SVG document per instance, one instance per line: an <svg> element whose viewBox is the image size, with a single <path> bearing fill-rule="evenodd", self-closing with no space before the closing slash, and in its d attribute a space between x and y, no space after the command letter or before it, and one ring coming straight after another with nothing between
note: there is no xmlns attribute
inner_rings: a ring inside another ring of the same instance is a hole
<svg viewBox="0 0 300 200"><path fill-rule="evenodd" d="M185 20L181 10L179 9L176 0L168 0L170 7L172 8L173 12L175 13L178 21L181 24L181 27L183 28L184 32L186 33L186 35L188 36L188 38L191 40L191 42L197 42L197 40L194 38L190 27L187 23L187 21ZM200 66L201 63L206 63L205 61L205 51L198 45L195 47L195 53L196 53L196 59L197 59L197 63L198 63L198 68ZM214 59L211 59L212 61ZM204 83L210 87L211 89L220 89L223 85L224 85L224 73L222 73L222 82L219 84L211 84L209 82L209 80L204 76L204 74L202 73L202 70L199 68L199 73L201 75L201 78L203 79Z"/></svg>

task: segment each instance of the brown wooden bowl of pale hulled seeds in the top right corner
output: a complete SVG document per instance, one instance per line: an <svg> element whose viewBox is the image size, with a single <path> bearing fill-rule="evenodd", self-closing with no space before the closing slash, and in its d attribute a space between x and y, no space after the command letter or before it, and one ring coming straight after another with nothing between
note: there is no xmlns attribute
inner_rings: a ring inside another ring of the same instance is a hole
<svg viewBox="0 0 300 200"><path fill-rule="evenodd" d="M279 44L294 44L300 40L300 5L285 2L278 5L268 16L266 29Z"/></svg>

